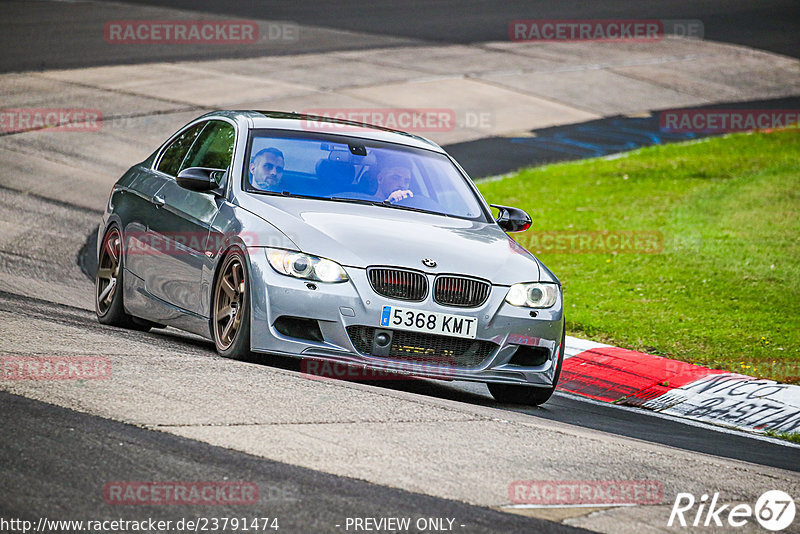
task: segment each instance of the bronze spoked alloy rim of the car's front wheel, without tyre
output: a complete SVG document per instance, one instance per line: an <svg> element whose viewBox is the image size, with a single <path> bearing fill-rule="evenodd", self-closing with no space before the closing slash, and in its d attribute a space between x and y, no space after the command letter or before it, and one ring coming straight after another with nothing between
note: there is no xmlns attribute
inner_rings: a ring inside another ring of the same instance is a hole
<svg viewBox="0 0 800 534"><path fill-rule="evenodd" d="M214 290L214 340L225 352L236 341L236 334L246 320L247 287L244 263L239 254L225 260Z"/></svg>

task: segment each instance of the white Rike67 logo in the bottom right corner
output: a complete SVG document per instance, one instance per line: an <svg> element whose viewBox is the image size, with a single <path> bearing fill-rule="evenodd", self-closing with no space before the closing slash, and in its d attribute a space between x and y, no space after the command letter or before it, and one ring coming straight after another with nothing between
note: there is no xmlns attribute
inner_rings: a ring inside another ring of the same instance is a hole
<svg viewBox="0 0 800 534"><path fill-rule="evenodd" d="M755 519L763 528L777 532L792 524L795 511L794 499L780 490L764 492L755 506L722 504L719 493L710 500L707 494L698 500L691 493L678 493L667 526L693 527L692 532L697 532L697 527L743 527Z"/></svg>

